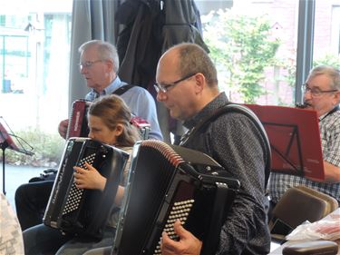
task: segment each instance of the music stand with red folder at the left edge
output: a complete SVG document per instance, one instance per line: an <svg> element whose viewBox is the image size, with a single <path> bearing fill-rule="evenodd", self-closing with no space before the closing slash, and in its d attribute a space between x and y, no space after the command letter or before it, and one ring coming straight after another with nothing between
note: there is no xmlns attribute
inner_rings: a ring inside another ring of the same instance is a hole
<svg viewBox="0 0 340 255"><path fill-rule="evenodd" d="M5 126L7 128L5 128ZM10 132L7 132L10 131ZM15 141L13 138L15 138ZM23 143L24 142L24 143ZM29 149L26 149L25 146L29 147ZM0 116L0 147L1 150L3 150L3 192L5 192L5 149L11 149L15 152L21 152L26 155L32 156L34 152L32 152L33 147L29 145L27 142L25 142L22 138L15 135L14 132L11 131L8 124L5 122L5 119Z"/></svg>

